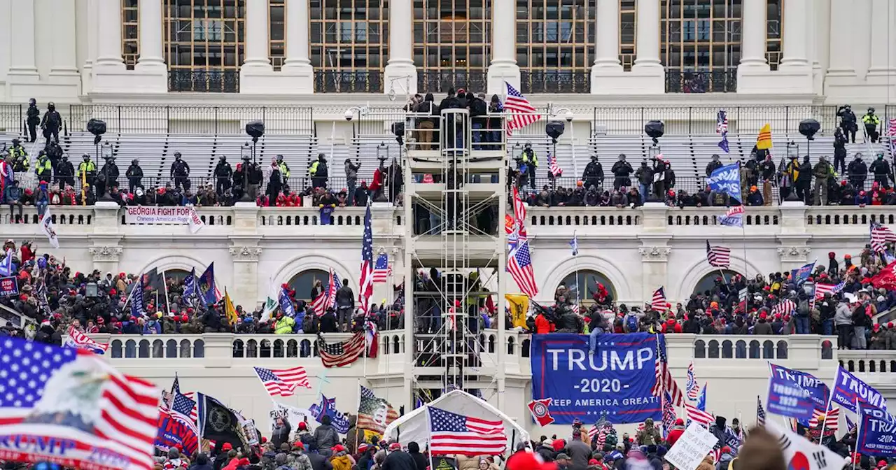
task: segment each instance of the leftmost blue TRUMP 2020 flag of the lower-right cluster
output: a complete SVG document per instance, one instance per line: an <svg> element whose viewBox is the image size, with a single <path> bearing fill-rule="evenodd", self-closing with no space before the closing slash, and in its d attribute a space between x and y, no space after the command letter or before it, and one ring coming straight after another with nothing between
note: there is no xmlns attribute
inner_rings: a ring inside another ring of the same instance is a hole
<svg viewBox="0 0 896 470"><path fill-rule="evenodd" d="M815 408L827 406L830 392L822 380L773 363L769 363L769 368L769 413L807 420Z"/></svg>

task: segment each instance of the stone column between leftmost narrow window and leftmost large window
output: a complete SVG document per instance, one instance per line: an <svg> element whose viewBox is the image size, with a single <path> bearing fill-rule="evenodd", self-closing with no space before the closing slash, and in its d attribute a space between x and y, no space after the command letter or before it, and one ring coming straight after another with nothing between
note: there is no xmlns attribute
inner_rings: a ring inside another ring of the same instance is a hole
<svg viewBox="0 0 896 470"><path fill-rule="evenodd" d="M168 93L168 66L162 51L162 0L140 2L140 59L134 66L144 93Z"/></svg>

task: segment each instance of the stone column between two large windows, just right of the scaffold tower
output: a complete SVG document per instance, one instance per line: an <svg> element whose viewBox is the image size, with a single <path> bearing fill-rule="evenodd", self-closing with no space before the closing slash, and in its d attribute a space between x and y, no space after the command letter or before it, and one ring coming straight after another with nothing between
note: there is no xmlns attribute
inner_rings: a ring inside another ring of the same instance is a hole
<svg viewBox="0 0 896 470"><path fill-rule="evenodd" d="M489 95L506 93L504 81L520 90L520 65L516 63L516 4L492 0L492 62L488 65Z"/></svg>

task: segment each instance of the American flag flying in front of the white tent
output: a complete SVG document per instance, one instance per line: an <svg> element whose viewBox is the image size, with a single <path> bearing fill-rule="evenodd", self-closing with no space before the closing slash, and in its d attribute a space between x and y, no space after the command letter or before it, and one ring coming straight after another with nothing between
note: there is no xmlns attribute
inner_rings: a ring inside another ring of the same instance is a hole
<svg viewBox="0 0 896 470"><path fill-rule="evenodd" d="M507 448L504 421L490 421L445 411L435 406L429 412L429 449L434 456L496 456Z"/></svg>

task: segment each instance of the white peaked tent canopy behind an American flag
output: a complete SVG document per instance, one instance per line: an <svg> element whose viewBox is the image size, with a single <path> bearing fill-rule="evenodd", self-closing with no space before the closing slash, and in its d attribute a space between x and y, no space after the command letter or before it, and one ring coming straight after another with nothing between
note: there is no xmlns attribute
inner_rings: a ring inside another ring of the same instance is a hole
<svg viewBox="0 0 896 470"><path fill-rule="evenodd" d="M485 400L473 397L463 390L452 390L426 404L426 406L419 407L409 414L401 416L401 418L393 421L386 427L383 437L389 440L398 440L402 445L415 441L420 445L420 449L425 449L426 443L429 442L427 406L435 406L445 411L474 418L493 421L500 419L504 421L504 429L507 432L507 450L510 452L513 452L513 446L517 442L529 441L529 432L526 432L522 426L511 420L509 416L502 413L495 406L491 406Z"/></svg>

